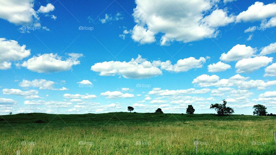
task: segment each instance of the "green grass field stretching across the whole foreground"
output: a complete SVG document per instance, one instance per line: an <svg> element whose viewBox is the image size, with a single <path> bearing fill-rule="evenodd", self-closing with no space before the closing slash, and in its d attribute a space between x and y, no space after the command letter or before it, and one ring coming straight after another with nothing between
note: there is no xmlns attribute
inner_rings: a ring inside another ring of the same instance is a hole
<svg viewBox="0 0 276 155"><path fill-rule="evenodd" d="M35 123L38 120L42 123ZM276 154L276 117L43 113L0 117L0 154Z"/></svg>

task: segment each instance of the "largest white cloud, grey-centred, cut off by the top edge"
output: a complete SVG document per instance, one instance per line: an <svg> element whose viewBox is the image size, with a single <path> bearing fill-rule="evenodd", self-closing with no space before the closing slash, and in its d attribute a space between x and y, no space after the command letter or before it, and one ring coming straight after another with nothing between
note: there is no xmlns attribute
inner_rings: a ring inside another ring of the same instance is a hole
<svg viewBox="0 0 276 155"><path fill-rule="evenodd" d="M216 36L216 28L202 21L204 13L210 10L215 1L209 0L136 0L133 37L140 43L155 41L154 35L164 34L161 45L173 40L191 42ZM228 21L227 21L228 22Z"/></svg>

